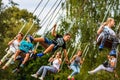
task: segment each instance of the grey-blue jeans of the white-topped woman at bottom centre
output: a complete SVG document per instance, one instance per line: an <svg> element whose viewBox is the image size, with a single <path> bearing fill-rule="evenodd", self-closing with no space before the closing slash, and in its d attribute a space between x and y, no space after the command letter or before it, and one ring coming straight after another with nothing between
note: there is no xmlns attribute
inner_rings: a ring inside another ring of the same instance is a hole
<svg viewBox="0 0 120 80"><path fill-rule="evenodd" d="M47 71L50 71L52 73L57 73L57 69L53 66L41 66L40 69L37 71L37 74L41 74L41 77L45 77Z"/></svg>

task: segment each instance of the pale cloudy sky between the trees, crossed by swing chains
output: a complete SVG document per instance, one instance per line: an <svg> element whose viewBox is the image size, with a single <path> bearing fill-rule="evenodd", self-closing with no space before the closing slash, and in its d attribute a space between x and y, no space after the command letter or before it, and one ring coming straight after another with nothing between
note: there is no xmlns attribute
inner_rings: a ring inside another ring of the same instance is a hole
<svg viewBox="0 0 120 80"><path fill-rule="evenodd" d="M29 12L33 12L35 10L35 8L37 7L38 3L41 0L13 0L15 3L19 4L19 8L20 9L27 9ZM38 7L38 9L36 10L36 12L34 13L34 15L38 16L38 14L41 12L41 10L43 9L43 6L47 3L48 0L43 0L40 4L40 6ZM60 2L61 0L57 0L57 4ZM2 0L2 2L5 5L8 5L9 0ZM43 12L40 14L40 16L38 17L41 22L43 21L43 18L46 16L46 14L49 12L49 10L51 9L51 7L53 6L53 4L56 2L56 0L49 0L47 6L45 7L45 9L43 10ZM62 0L62 2L65 2L65 0ZM57 6L57 4L55 5L55 7ZM51 13L53 14L53 16L55 16L55 14L58 12L58 10L60 9L61 6L59 6L57 8L57 10L53 13L55 7L51 10ZM50 14L51 14L50 13ZM49 15L50 15L49 14ZM56 23L56 21L59 21L59 16L65 14L65 11L63 12L62 10L57 14L57 17L54 19L54 21L52 22L52 24L48 24L49 23L49 19L46 22L43 22L43 24L41 24L42 29L37 31L38 35L42 35L44 33L44 30L50 30L52 28L52 26ZM48 15L48 16L49 16ZM47 28L46 28L47 27Z"/></svg>

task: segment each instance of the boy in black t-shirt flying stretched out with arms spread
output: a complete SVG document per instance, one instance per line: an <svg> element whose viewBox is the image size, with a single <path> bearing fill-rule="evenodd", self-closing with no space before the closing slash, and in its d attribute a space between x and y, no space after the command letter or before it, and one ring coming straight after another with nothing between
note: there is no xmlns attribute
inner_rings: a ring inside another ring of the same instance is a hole
<svg viewBox="0 0 120 80"><path fill-rule="evenodd" d="M68 62L66 42L70 40L71 36L69 33L66 33L64 36L56 34L55 30L56 30L56 24L53 26L53 30L52 30L52 36L55 37L55 39L53 40L49 40L46 37L33 38L32 36L30 36L30 39L34 42L40 42L40 44L45 48L45 51L38 53L37 56L42 57L48 52L54 52L59 47L62 47L64 51L65 60L66 62Z"/></svg>

